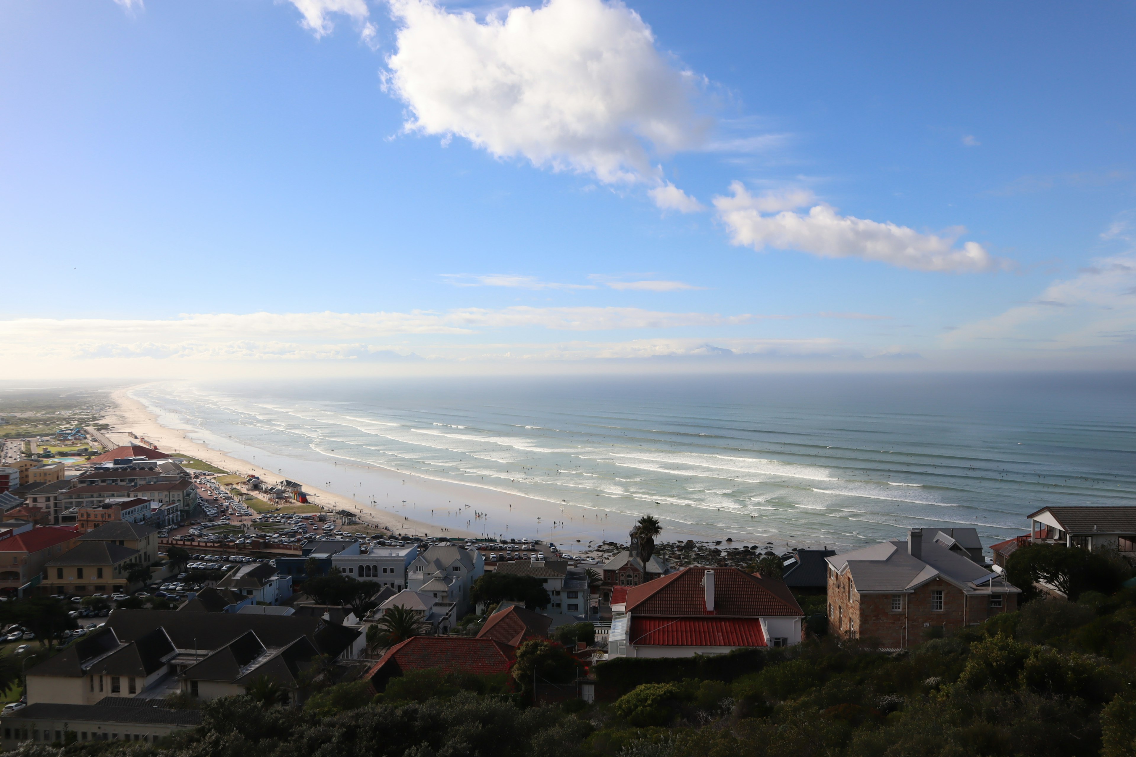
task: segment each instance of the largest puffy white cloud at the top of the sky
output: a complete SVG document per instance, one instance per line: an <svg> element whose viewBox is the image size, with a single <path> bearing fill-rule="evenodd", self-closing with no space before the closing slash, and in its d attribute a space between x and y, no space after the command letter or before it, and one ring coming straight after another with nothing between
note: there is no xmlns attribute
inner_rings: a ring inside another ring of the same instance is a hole
<svg viewBox="0 0 1136 757"><path fill-rule="evenodd" d="M696 77L621 2L549 0L478 22L429 0L392 0L387 91L406 128L453 135L499 158L661 185L653 155L701 145Z"/></svg>

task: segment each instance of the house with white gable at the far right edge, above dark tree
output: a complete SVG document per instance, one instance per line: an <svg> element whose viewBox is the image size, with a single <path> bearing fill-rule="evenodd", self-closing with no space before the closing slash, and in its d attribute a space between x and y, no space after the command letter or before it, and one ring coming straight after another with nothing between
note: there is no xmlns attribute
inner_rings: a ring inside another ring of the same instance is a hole
<svg viewBox="0 0 1136 757"><path fill-rule="evenodd" d="M1034 544L1063 544L1085 549L1116 549L1136 556L1136 507L1042 507L1027 515Z"/></svg>

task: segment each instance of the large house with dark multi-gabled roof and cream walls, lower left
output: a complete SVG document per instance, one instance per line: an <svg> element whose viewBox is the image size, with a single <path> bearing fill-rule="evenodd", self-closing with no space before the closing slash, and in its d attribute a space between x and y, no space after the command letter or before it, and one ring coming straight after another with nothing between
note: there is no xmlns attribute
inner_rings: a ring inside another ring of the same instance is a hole
<svg viewBox="0 0 1136 757"><path fill-rule="evenodd" d="M27 701L90 705L105 697L160 697L172 689L211 699L244 693L264 674L293 687L290 700L300 704L294 683L307 661L354 659L362 645L359 631L317 617L116 609L101 629L27 670ZM195 667L206 661L209 665ZM234 672L232 661L247 662Z"/></svg>

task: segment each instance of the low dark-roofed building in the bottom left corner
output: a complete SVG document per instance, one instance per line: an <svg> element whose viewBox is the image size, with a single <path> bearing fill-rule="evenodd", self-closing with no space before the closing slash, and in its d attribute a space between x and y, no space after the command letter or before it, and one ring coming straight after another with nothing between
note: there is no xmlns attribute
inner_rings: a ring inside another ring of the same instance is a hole
<svg viewBox="0 0 1136 757"><path fill-rule="evenodd" d="M0 716L0 749L15 751L25 741L47 746L70 739L154 745L170 733L199 725L200 709L169 709L149 700L108 698L95 705L39 703Z"/></svg>

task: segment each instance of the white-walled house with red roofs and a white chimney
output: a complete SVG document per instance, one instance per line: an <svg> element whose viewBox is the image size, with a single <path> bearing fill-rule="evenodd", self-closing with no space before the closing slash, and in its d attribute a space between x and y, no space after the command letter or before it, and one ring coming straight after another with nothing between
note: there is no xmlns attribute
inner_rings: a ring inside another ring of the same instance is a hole
<svg viewBox="0 0 1136 757"><path fill-rule="evenodd" d="M686 567L611 596L609 657L692 657L800 644L804 613L784 581Z"/></svg>

